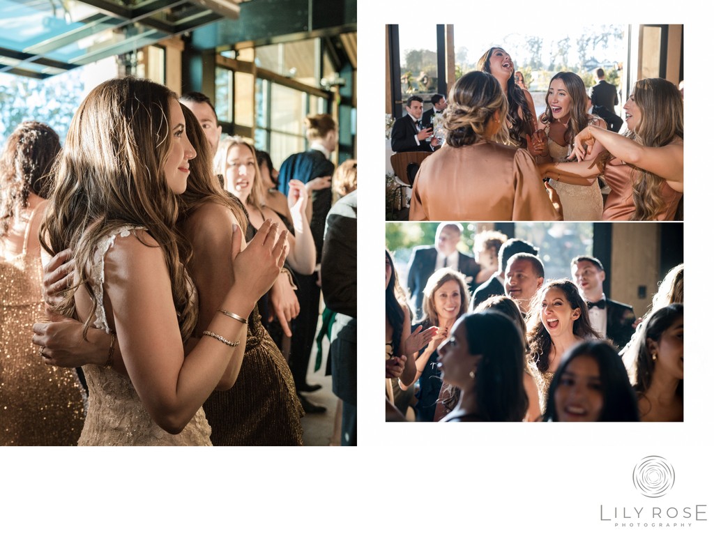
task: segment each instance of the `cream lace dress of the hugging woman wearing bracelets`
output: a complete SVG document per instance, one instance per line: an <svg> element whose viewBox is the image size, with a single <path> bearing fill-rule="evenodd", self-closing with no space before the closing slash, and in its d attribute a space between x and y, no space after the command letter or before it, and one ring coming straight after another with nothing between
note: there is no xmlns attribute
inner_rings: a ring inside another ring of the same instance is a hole
<svg viewBox="0 0 714 534"><path fill-rule="evenodd" d="M118 228L97 246L91 269L91 286L96 298L94 326L111 332L104 311L104 255L116 236L131 235L136 228ZM148 355L150 357L150 355ZM79 445L211 445L211 427L203 408L181 433L166 432L154 423L126 376L101 366L82 367L89 387L89 408Z"/></svg>

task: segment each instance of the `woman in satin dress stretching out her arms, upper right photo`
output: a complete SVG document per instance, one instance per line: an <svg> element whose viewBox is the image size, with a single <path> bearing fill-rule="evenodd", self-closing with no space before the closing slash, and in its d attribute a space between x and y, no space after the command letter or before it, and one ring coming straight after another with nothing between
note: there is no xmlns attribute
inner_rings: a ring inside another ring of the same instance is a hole
<svg viewBox="0 0 714 534"><path fill-rule="evenodd" d="M573 139L578 161L543 163L540 172L575 184L601 174L611 190L603 221L673 221L684 192L682 96L670 81L643 79L623 109L623 135L586 126ZM600 157L585 161L598 145L604 148Z"/></svg>

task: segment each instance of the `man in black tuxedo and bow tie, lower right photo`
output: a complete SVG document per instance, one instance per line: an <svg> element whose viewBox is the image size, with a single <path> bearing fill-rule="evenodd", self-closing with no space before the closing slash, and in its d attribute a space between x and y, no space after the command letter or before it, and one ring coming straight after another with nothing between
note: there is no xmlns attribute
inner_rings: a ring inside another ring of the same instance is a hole
<svg viewBox="0 0 714 534"><path fill-rule="evenodd" d="M635 311L629 304L605 296L603 264L593 256L578 256L570 262L570 273L588 303L588 315L595 331L603 338L609 338L618 350L623 348L635 333Z"/></svg>

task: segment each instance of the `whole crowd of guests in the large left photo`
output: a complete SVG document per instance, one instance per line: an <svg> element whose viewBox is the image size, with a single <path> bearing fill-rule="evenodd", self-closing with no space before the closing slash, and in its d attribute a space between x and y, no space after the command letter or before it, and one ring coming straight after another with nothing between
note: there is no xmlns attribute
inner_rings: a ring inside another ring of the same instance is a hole
<svg viewBox="0 0 714 534"><path fill-rule="evenodd" d="M306 135L278 173L221 139L203 94L132 77L89 93L64 148L17 127L0 158L1 444L301 445L301 417L326 411L306 396L321 292L338 441L356 444L356 161L335 170L331 116Z"/></svg>

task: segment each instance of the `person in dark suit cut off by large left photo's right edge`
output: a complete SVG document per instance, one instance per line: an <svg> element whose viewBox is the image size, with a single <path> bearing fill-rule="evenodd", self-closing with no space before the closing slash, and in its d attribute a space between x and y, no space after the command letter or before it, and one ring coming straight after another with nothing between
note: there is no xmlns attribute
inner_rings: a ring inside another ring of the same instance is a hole
<svg viewBox="0 0 714 534"><path fill-rule="evenodd" d="M357 191L332 206L322 251L325 306L336 312L330 336L332 391L342 399L342 445L357 445Z"/></svg>

